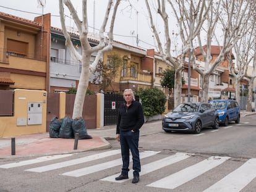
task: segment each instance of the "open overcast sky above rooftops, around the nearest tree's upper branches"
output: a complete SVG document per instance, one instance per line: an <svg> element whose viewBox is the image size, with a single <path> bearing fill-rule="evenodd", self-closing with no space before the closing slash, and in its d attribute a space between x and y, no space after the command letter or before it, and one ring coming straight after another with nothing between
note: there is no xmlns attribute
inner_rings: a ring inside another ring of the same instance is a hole
<svg viewBox="0 0 256 192"><path fill-rule="evenodd" d="M130 0L134 6L132 10L128 9L127 3L119 7L115 25L114 25L114 40L122 43L137 46L137 34L139 37L139 46L145 49L155 48L153 33L148 24L147 9L144 1ZM81 12L81 1L72 1L77 12ZM95 2L95 9L93 4ZM103 20L103 15L106 9L106 0L90 0L88 1L88 23L90 31L93 32L93 26L98 31ZM136 9L136 10L135 10ZM95 12L93 12L95 10ZM51 13L51 26L61 28L59 21L59 1L46 0L45 7L42 9L38 6L38 0L6 0L1 1L0 11L7 14L15 15L25 19L33 20L38 15ZM67 8L65 14L69 15ZM93 17L95 15L95 17ZM81 17L80 17L81 18ZM95 18L95 19L93 19ZM66 25L75 27L74 22L66 17ZM108 30L108 28L107 28ZM156 49L156 48L155 48Z"/></svg>

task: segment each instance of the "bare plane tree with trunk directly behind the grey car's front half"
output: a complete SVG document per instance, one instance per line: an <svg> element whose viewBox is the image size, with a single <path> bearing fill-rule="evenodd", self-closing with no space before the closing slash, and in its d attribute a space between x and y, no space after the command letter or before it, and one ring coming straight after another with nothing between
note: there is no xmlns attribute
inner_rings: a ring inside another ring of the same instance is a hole
<svg viewBox="0 0 256 192"><path fill-rule="evenodd" d="M151 1L150 1L151 2ZM187 1L187 0L158 0L155 4L150 4L145 0L151 29L156 38L158 49L163 61L171 65L175 71L174 85L174 107L181 103L182 70L189 52L192 52L193 41L202 29L202 25L207 19L209 4L213 1ZM160 30L156 28L152 12L160 15L164 28L164 40L160 38ZM174 25L173 23L177 23ZM178 58L174 57L171 51L171 35L176 31L182 42L182 51Z"/></svg>

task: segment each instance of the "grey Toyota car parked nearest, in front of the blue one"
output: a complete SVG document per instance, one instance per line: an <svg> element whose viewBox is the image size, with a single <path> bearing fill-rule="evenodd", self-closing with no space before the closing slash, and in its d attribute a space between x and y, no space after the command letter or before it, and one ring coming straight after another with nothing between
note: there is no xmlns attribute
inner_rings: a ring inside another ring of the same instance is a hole
<svg viewBox="0 0 256 192"><path fill-rule="evenodd" d="M177 106L173 112L164 115L163 130L190 131L200 133L202 128L219 128L219 117L216 109L205 102L187 102Z"/></svg>

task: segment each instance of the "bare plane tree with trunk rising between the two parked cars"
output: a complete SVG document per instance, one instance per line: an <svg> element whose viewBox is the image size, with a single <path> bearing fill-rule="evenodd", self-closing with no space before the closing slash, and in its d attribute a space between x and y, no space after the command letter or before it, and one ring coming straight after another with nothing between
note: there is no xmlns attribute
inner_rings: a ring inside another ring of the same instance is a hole
<svg viewBox="0 0 256 192"><path fill-rule="evenodd" d="M244 35L247 25L244 21L249 19L251 9L250 1L220 0L211 4L206 23L197 35L204 67L200 69L195 62L193 64L193 69L202 77L201 101L208 101L210 75L228 58L234 45ZM212 60L211 48L214 41L218 44L220 53Z"/></svg>

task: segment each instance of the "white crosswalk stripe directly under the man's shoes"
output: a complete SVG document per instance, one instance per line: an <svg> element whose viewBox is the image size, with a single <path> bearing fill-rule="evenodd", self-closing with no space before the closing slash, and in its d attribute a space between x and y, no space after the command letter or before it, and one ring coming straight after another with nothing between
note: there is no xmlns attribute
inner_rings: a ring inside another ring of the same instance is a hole
<svg viewBox="0 0 256 192"><path fill-rule="evenodd" d="M187 159L188 157L190 157L189 154L182 153L182 152L177 152L173 156L168 156L168 157L165 157L165 158L160 159L158 161L151 162L149 164L143 165L141 167L142 172L140 172L140 175L145 175L147 173L150 173L150 172L153 172L155 170L158 170L158 169L161 169L163 167L166 167L167 165L171 165L171 164L174 164L176 162L179 162L179 161L182 161L184 159ZM115 178L118 177L119 174L120 173L117 173L115 175L111 175L109 177L105 177L105 178L101 179L101 181L122 183L122 182L126 182L127 180L129 180L129 179L126 179L126 180L116 181ZM128 177L130 179L132 179L133 178L133 173L129 172Z"/></svg>

